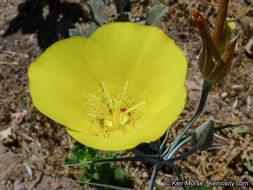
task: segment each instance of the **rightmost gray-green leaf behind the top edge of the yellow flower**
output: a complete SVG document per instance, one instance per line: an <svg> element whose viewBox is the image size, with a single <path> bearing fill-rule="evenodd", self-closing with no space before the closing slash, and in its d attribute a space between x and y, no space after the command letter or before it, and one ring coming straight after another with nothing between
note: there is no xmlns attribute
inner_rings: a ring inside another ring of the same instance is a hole
<svg viewBox="0 0 253 190"><path fill-rule="evenodd" d="M167 9L168 7L165 5L155 5L152 7L148 12L146 24L155 26L167 11Z"/></svg>

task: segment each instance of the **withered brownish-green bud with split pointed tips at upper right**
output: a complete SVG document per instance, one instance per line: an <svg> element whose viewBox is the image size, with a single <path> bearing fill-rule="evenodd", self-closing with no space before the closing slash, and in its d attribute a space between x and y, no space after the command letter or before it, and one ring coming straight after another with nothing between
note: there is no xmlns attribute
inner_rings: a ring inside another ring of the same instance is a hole
<svg viewBox="0 0 253 190"><path fill-rule="evenodd" d="M206 81L215 84L221 81L231 68L231 61L239 35L229 43L231 34L235 30L235 24L231 19L227 19L220 47L217 47L206 21L197 10L193 11L193 21L203 42L198 60L200 72Z"/></svg>

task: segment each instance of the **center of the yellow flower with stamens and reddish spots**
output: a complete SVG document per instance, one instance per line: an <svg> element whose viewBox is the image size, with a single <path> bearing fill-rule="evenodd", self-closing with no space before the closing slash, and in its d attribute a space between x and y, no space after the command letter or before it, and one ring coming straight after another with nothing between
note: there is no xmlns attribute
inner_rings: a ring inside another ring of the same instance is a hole
<svg viewBox="0 0 253 190"><path fill-rule="evenodd" d="M85 106L86 115L88 112L86 120L95 126L95 135L119 136L143 123L146 101L142 100L145 98L140 93L131 91L128 82L122 86L119 88L114 85L114 89L112 87L109 90L105 82L102 82L100 92L87 93L90 101L87 101L89 105Z"/></svg>

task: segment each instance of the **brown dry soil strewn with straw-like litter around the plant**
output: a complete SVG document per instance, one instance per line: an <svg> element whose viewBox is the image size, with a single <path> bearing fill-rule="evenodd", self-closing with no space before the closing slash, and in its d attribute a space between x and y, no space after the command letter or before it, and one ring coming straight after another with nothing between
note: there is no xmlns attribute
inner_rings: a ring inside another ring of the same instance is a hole
<svg viewBox="0 0 253 190"><path fill-rule="evenodd" d="M202 77L196 63L201 41L191 14L193 9L198 9L213 28L218 1L141 0L133 3L129 10L133 18L139 18L145 16L151 6L160 3L169 9L158 27L175 41L188 59L188 98L184 111L171 128L169 141L172 141L193 114L200 97ZM64 166L73 140L64 127L33 106L27 69L45 48L68 37L68 28L75 27L85 33L91 23L88 11L87 5L80 0L0 0L0 62L16 62L15 65L0 65L0 190L82 189L76 183L60 180L78 179L81 175L78 169ZM114 12L115 7L108 6L108 16ZM231 1L228 15L235 19L240 32L232 70L222 83L214 86L193 128L211 116L216 126L252 121L253 118L252 1ZM245 165L246 161L253 160L253 129L252 126L242 128L246 131L242 134L234 129L217 132L207 151L175 162L182 177L204 182L246 181L250 187L234 189L253 189L253 173ZM118 165L133 176L134 189L147 188L152 166L143 163ZM165 182L175 179L172 170L165 167L157 183L160 189L173 189L165 187Z"/></svg>

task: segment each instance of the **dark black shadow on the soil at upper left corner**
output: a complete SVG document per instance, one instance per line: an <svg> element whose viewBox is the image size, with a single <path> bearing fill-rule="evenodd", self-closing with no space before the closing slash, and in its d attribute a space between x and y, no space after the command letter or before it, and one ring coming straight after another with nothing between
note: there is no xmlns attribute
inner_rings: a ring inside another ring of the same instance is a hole
<svg viewBox="0 0 253 190"><path fill-rule="evenodd" d="M41 49L62 38L74 24L88 21L88 14L77 3L60 0L27 0L18 5L18 15L10 22L5 36L18 30L22 34L37 34Z"/></svg>

